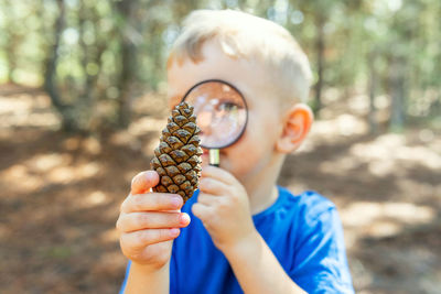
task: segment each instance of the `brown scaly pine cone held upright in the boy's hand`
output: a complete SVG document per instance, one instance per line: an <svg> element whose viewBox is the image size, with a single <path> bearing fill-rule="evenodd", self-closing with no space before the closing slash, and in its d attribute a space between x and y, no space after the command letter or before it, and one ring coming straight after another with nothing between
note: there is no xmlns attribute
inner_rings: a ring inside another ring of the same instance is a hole
<svg viewBox="0 0 441 294"><path fill-rule="evenodd" d="M179 194L184 203L192 197L201 176L200 132L193 107L186 102L175 106L150 162L160 176L154 192Z"/></svg>

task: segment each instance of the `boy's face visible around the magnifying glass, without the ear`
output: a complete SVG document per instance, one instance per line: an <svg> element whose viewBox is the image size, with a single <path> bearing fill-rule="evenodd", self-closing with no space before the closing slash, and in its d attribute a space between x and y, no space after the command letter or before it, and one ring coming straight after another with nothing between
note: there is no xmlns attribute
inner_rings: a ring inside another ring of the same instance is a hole
<svg viewBox="0 0 441 294"><path fill-rule="evenodd" d="M282 132L279 98L271 88L262 66L225 55L214 41L202 48L203 61L186 59L182 66L173 63L168 72L169 105L175 106L195 84L205 79L222 79L236 86L248 106L248 124L241 138L220 150L220 167L239 181L258 175L271 161L275 143ZM204 150L203 164L208 163Z"/></svg>

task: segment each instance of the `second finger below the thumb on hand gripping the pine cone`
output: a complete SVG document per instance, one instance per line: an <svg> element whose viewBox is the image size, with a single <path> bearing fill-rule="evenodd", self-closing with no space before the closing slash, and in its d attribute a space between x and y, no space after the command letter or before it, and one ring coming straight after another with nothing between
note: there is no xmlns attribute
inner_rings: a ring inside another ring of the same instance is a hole
<svg viewBox="0 0 441 294"><path fill-rule="evenodd" d="M181 213L132 213L123 214L117 221L117 229L123 232L143 229L184 228L190 216Z"/></svg>

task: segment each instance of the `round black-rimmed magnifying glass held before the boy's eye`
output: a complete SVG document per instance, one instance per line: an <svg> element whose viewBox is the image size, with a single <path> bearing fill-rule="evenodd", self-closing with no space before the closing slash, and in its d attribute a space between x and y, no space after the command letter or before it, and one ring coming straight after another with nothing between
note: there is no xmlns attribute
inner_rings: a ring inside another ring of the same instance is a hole
<svg viewBox="0 0 441 294"><path fill-rule="evenodd" d="M207 79L194 85L182 100L194 107L201 146L209 151L209 165L219 166L219 149L234 144L246 129L244 96L225 80Z"/></svg>

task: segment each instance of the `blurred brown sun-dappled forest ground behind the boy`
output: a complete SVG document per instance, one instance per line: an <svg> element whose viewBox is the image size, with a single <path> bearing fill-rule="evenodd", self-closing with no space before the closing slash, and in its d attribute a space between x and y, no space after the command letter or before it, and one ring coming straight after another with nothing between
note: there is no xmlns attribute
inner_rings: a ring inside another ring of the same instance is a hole
<svg viewBox="0 0 441 294"><path fill-rule="evenodd" d="M337 205L357 293L441 293L440 130L370 135L366 97L333 97L280 184ZM376 102L383 122L388 105ZM164 124L161 98L137 109L126 131L69 135L43 92L0 87L1 293L118 291L119 205Z"/></svg>

